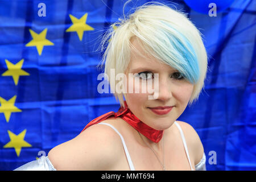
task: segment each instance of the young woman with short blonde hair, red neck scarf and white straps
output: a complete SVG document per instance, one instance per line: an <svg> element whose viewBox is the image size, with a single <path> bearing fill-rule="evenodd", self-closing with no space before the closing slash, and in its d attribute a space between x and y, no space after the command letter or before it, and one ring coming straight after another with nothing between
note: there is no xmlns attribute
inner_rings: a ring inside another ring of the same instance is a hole
<svg viewBox="0 0 256 182"><path fill-rule="evenodd" d="M176 120L204 86L207 53L200 32L185 14L156 3L114 26L102 40L102 48L108 43L102 65L110 80L125 75L110 81L113 91L122 85L114 92L118 112L94 119L76 138L17 170L206 169L196 131ZM142 92L150 81L154 92Z"/></svg>

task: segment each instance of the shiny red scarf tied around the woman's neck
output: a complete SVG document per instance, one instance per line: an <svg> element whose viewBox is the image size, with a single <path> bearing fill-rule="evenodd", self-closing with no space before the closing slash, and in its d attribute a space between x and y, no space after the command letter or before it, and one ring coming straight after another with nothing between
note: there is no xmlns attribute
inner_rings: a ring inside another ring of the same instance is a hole
<svg viewBox="0 0 256 182"><path fill-rule="evenodd" d="M147 126L145 123L143 123L141 120L139 120L128 108L126 101L125 101L125 107L120 107L117 113L114 111L110 111L109 113L103 114L98 118L93 119L93 121L90 121L85 128L82 130L84 131L89 126L95 125L97 123L100 123L104 121L105 119L109 117L120 117L123 120L125 120L129 125L131 125L135 130L139 131L139 133L143 134L145 137L150 139L152 142L158 143L162 137L163 137L163 130L155 130L152 129L152 127Z"/></svg>

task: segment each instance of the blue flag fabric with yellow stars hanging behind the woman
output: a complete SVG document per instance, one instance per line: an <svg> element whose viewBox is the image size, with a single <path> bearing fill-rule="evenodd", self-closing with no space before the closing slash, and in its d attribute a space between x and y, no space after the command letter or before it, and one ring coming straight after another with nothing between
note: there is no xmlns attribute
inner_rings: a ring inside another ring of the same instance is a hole
<svg viewBox="0 0 256 182"><path fill-rule="evenodd" d="M146 2L129 3L125 13ZM202 32L209 56L205 89L179 120L199 134L208 170L255 170L256 2L234 1L217 16L172 2ZM111 94L97 91L97 48L124 3L0 1L1 170L47 155L92 119L118 110Z"/></svg>

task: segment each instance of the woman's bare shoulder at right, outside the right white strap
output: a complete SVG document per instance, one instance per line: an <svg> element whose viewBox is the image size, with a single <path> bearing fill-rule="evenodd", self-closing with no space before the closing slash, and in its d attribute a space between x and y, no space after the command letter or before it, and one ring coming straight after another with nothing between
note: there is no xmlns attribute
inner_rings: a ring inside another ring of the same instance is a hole
<svg viewBox="0 0 256 182"><path fill-rule="evenodd" d="M189 148L189 151L191 151L193 155L192 157L195 160L196 165L203 158L204 154L204 147L201 142L201 139L197 134L196 130L193 128L193 126L189 125L189 123L183 121L176 122L180 125L181 129L183 130L187 147Z"/></svg>

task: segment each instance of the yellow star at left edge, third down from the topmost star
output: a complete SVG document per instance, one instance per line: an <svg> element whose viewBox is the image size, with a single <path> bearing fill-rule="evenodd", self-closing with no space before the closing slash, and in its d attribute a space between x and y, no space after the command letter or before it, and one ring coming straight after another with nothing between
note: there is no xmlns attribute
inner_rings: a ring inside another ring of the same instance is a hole
<svg viewBox="0 0 256 182"><path fill-rule="evenodd" d="M19 82L19 76L28 76L29 73L23 71L22 65L23 65L24 59L20 60L19 63L13 64L7 59L5 60L5 63L7 65L8 70L2 74L2 76L12 76L15 85L18 85Z"/></svg>

